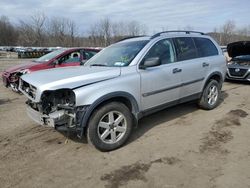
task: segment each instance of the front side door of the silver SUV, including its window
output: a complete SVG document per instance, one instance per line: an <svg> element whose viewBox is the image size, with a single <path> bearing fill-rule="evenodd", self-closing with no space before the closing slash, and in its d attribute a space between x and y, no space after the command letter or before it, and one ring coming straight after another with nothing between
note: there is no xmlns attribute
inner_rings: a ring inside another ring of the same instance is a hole
<svg viewBox="0 0 250 188"><path fill-rule="evenodd" d="M163 39L154 44L143 61L159 57L161 65L139 69L141 77L141 103L144 111L176 102L180 92L180 74L172 40ZM141 62L142 63L142 62Z"/></svg>

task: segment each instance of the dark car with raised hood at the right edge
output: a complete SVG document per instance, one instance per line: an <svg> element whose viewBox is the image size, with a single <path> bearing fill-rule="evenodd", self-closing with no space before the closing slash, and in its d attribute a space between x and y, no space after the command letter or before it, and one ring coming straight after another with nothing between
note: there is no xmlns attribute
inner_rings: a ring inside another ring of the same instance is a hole
<svg viewBox="0 0 250 188"><path fill-rule="evenodd" d="M228 80L250 81L250 41L239 41L227 45L232 57L227 64Z"/></svg>

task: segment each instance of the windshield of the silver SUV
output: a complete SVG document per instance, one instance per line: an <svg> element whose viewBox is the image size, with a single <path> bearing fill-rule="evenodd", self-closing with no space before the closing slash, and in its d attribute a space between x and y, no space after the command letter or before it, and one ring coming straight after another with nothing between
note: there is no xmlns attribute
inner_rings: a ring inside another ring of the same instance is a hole
<svg viewBox="0 0 250 188"><path fill-rule="evenodd" d="M85 66L128 66L147 42L143 40L113 44L87 61Z"/></svg>

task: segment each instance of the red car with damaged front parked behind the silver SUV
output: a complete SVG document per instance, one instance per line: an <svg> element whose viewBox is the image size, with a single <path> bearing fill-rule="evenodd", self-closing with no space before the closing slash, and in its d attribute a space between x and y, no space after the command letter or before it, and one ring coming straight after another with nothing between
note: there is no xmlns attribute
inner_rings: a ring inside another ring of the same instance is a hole
<svg viewBox="0 0 250 188"><path fill-rule="evenodd" d="M27 64L5 70L2 74L3 83L18 92L19 78L23 74L57 67L79 66L99 51L100 49L96 48L61 48Z"/></svg>

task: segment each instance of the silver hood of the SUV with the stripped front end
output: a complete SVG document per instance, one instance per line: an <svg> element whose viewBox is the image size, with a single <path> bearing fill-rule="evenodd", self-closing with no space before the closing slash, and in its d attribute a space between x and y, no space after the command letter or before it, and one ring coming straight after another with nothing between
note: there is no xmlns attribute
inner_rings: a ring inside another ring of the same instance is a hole
<svg viewBox="0 0 250 188"><path fill-rule="evenodd" d="M21 78L42 92L62 88L74 89L119 75L119 67L76 66L37 71Z"/></svg>

